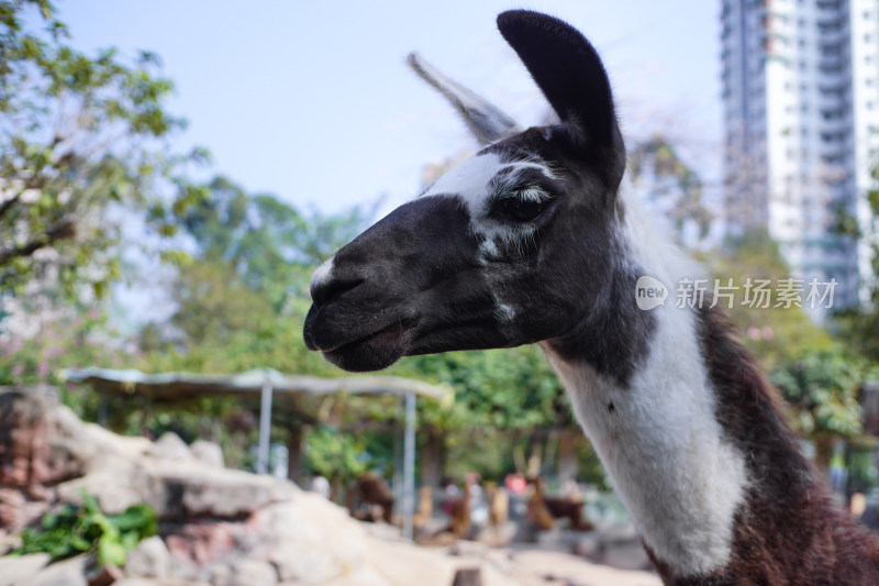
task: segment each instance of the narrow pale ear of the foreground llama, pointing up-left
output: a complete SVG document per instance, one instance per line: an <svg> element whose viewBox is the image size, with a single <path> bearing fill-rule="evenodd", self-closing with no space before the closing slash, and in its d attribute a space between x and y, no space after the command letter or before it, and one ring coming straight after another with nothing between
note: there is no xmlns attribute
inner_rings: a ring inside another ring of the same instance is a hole
<svg viewBox="0 0 879 586"><path fill-rule="evenodd" d="M410 53L407 62L419 77L445 96L452 107L464 118L467 128L480 144L493 143L521 132L512 118L488 100L443 75L418 53Z"/></svg>

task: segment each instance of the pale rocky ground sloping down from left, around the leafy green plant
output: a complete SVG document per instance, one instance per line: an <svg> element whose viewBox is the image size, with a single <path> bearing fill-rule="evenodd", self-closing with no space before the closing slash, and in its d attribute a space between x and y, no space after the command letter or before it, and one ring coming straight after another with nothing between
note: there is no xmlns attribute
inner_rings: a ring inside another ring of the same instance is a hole
<svg viewBox="0 0 879 586"><path fill-rule="evenodd" d="M0 557L0 586L450 586L479 568L483 586L653 586L656 576L546 551L472 542L430 549L289 482L226 469L213 444L122 438L84 423L46 390L0 389L0 553L15 534L80 489L107 513L146 502L159 535L124 567L81 555Z"/></svg>

